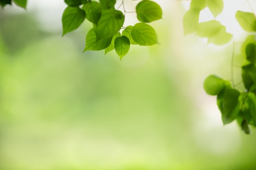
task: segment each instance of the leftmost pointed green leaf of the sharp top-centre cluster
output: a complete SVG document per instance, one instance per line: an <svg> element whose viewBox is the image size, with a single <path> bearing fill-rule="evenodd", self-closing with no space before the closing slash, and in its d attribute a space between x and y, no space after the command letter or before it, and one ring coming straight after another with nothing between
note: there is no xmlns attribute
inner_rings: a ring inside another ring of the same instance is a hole
<svg viewBox="0 0 256 170"><path fill-rule="evenodd" d="M84 20L85 11L83 11L79 7L67 7L62 15L62 36L77 29Z"/></svg>

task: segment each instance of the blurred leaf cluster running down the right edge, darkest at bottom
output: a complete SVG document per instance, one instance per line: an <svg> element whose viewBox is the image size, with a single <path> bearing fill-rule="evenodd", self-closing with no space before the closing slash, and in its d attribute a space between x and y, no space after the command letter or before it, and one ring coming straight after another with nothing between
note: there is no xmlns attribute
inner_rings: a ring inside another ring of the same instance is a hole
<svg viewBox="0 0 256 170"><path fill-rule="evenodd" d="M256 32L256 18L253 13L237 11L236 20L249 32ZM217 95L217 105L222 113L223 124L235 119L242 130L249 134L249 124L256 126L256 40L247 36L241 46L241 54L246 60L242 66L244 92L231 87L231 84L216 75L209 75L204 81L204 90L209 95Z"/></svg>

